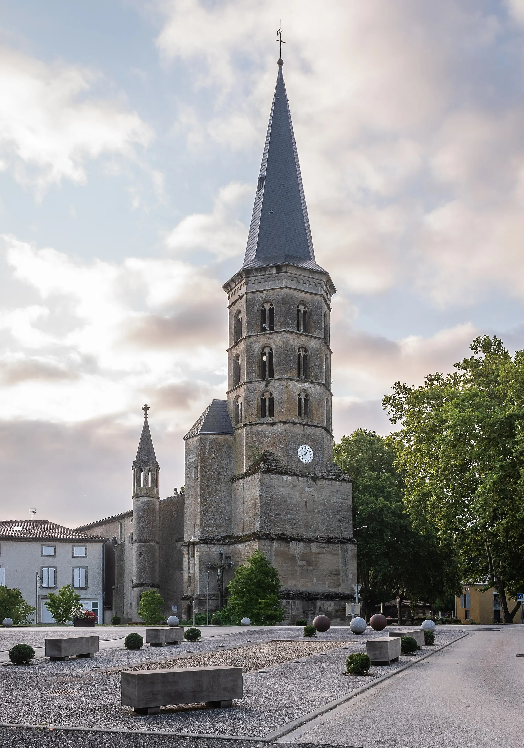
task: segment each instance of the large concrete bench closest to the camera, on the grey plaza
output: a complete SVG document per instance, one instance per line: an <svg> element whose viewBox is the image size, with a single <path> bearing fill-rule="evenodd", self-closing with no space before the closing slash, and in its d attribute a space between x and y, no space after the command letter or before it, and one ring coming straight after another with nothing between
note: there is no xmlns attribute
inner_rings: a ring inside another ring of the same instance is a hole
<svg viewBox="0 0 524 748"><path fill-rule="evenodd" d="M161 706L197 704L224 708L241 699L242 669L228 665L125 670L121 702L137 714L160 714Z"/></svg>

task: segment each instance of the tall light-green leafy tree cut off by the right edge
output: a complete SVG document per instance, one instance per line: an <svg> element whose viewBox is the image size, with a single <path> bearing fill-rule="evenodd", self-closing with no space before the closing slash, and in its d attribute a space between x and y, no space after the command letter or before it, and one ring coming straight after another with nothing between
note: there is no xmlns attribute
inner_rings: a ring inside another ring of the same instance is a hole
<svg viewBox="0 0 524 748"><path fill-rule="evenodd" d="M383 406L401 424L393 441L415 526L429 521L458 545L466 577L496 589L511 623L505 593L524 583L524 352L512 359L487 335L470 348L449 375L396 382Z"/></svg>

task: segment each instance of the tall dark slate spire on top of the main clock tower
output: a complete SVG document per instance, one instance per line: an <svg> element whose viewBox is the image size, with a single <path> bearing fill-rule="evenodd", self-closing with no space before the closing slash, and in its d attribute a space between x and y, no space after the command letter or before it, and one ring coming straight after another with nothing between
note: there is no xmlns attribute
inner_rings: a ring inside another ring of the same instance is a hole
<svg viewBox="0 0 524 748"><path fill-rule="evenodd" d="M244 268L277 263L318 268L284 85L283 64L280 59Z"/></svg>

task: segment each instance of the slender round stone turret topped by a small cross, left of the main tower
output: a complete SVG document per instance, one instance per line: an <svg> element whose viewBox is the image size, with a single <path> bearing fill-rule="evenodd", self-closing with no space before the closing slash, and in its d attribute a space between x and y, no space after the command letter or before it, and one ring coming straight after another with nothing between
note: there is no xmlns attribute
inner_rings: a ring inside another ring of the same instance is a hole
<svg viewBox="0 0 524 748"><path fill-rule="evenodd" d="M132 620L139 621L138 606L144 589L160 586L160 467L152 446L149 406L144 405L144 426L133 473L133 530L132 530Z"/></svg>

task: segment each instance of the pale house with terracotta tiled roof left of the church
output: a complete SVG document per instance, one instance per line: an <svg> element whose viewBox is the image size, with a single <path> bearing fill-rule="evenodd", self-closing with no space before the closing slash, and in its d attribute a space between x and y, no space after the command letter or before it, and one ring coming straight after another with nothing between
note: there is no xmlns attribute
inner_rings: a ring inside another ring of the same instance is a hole
<svg viewBox="0 0 524 748"><path fill-rule="evenodd" d="M35 623L55 622L47 595L71 584L103 623L104 541L48 521L0 521L0 584L22 592Z"/></svg>

